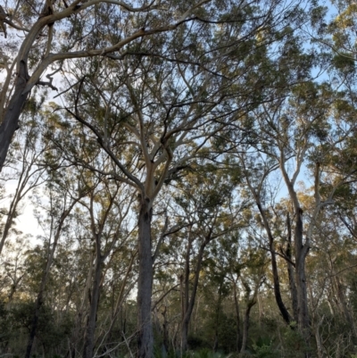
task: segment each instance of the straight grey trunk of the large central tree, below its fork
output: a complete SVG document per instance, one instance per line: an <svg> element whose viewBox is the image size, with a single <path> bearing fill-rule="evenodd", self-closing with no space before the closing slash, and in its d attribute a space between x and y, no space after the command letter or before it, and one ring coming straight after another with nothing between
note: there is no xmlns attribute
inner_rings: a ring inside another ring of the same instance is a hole
<svg viewBox="0 0 357 358"><path fill-rule="evenodd" d="M151 295L153 287L153 257L151 253L151 221L153 209L150 199L142 199L138 218L137 282L137 357L152 358L154 351Z"/></svg>

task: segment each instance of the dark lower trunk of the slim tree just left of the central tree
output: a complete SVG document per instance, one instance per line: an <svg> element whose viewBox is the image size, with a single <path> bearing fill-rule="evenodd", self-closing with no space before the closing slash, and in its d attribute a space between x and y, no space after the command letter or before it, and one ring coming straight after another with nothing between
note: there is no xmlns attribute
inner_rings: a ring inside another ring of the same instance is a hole
<svg viewBox="0 0 357 358"><path fill-rule="evenodd" d="M85 343L83 347L83 358L92 358L95 342L95 325L96 325L96 312L98 311L99 295L100 295L100 282L103 271L103 257L100 253L100 246L96 248L95 258L95 277L92 286L92 295L90 296L89 314L87 318L87 329Z"/></svg>

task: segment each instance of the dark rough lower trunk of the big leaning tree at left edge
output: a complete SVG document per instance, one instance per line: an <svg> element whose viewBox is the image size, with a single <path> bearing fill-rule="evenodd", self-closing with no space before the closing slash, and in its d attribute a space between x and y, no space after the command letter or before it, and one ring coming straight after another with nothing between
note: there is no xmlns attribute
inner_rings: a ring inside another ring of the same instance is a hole
<svg viewBox="0 0 357 358"><path fill-rule="evenodd" d="M24 92L28 77L27 68L24 62L20 63L18 78L16 79L15 89L4 113L4 119L0 118L0 171L3 170L9 146L12 141L13 134L19 128L19 118L22 108L26 103L29 92Z"/></svg>

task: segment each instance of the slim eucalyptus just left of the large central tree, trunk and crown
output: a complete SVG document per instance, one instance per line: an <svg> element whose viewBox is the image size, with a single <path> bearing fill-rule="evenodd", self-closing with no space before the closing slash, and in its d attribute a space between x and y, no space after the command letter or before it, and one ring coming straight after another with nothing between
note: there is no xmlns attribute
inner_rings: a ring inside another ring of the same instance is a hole
<svg viewBox="0 0 357 358"><path fill-rule="evenodd" d="M80 204L87 208L89 214L95 251L95 268L93 284L90 285L90 307L83 348L83 357L86 358L93 356L99 296L104 284L106 270L110 267L113 255L120 251L129 239L129 235L123 235L123 232L125 232L123 226L129 215L130 204L133 202L132 193L125 190L124 185L120 186L120 182L108 182L103 178L87 178L87 180L87 186L93 186L93 189L88 194L88 202L86 203L82 199ZM135 254L132 257L134 258ZM107 269L105 270L104 267ZM125 287L125 284L123 287Z"/></svg>

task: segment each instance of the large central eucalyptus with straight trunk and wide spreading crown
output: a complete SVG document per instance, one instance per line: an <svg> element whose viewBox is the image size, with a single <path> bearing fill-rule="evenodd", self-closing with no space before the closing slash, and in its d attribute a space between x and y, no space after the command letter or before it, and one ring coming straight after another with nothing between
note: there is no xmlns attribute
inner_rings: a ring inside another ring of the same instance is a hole
<svg viewBox="0 0 357 358"><path fill-rule="evenodd" d="M64 112L89 129L91 142L111 158L112 170L101 174L138 193L140 357L153 352L154 201L197 155L210 156L213 134L262 100L259 75L246 74L263 71L264 46L281 40L285 35L278 31L290 21L300 21L297 10L298 4L285 2L207 5L195 12L196 22L170 34L130 43L125 52L108 54L110 59L77 60L75 71L63 67L71 72ZM141 15L133 18L143 21ZM276 36L264 37L265 31ZM81 165L91 168L90 162Z"/></svg>

